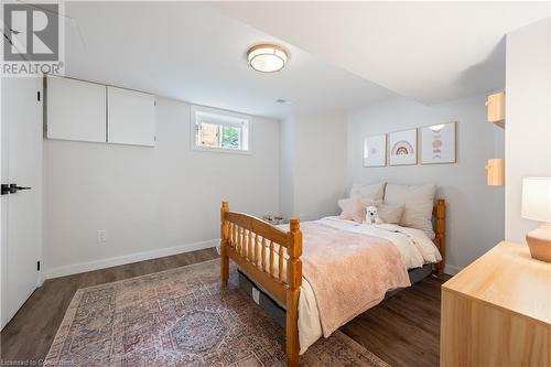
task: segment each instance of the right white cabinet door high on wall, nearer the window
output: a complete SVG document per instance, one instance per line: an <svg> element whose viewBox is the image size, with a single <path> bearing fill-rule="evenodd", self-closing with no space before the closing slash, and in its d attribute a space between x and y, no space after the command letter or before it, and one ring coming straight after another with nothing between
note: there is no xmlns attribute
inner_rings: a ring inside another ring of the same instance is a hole
<svg viewBox="0 0 551 367"><path fill-rule="evenodd" d="M119 144L155 144L155 97L107 87L107 141Z"/></svg>

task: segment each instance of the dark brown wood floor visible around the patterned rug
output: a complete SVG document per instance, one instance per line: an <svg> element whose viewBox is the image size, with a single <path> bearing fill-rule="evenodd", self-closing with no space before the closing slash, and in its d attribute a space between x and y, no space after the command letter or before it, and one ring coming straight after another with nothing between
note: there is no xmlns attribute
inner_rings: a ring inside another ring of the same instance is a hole
<svg viewBox="0 0 551 367"><path fill-rule="evenodd" d="M46 356L65 310L79 288L217 257L215 249L206 249L47 280L3 328L1 359L3 364L40 363ZM440 287L449 278L426 278L359 315L341 330L392 366L437 366Z"/></svg>

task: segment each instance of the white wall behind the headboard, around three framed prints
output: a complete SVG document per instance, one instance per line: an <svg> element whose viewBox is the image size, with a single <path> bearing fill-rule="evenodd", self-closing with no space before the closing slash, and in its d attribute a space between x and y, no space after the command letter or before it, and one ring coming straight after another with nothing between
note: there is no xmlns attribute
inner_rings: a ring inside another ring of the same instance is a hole
<svg viewBox="0 0 551 367"><path fill-rule="evenodd" d="M504 131L486 122L486 96L424 106L395 98L348 116L347 183L434 182L447 202L446 272L455 273L504 238L504 188L486 185L486 161L504 156ZM366 136L457 121L457 163L363 166Z"/></svg>

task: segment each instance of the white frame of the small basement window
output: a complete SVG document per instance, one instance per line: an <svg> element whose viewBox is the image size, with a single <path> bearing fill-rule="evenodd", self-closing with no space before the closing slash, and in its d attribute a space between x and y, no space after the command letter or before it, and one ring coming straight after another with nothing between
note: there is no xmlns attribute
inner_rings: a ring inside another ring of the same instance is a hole
<svg viewBox="0 0 551 367"><path fill-rule="evenodd" d="M240 128L239 142L242 147L247 145L247 150L231 149L231 148L213 148L197 144L195 132L197 120L201 118L204 122L214 123L218 126L238 127ZM252 136L251 118L247 115L222 110L212 107L203 107L192 105L190 114L190 145L193 151L214 152L214 153L229 153L229 154L252 154L251 150L251 136ZM244 140L245 131L247 131L247 142Z"/></svg>

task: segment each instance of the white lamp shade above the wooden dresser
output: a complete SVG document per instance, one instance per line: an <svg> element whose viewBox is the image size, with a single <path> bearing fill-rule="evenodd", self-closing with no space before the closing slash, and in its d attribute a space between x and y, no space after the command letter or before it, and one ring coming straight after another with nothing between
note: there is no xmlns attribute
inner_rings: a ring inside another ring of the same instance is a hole
<svg viewBox="0 0 551 367"><path fill-rule="evenodd" d="M522 180L523 218L551 223L551 177Z"/></svg>

